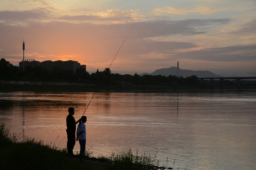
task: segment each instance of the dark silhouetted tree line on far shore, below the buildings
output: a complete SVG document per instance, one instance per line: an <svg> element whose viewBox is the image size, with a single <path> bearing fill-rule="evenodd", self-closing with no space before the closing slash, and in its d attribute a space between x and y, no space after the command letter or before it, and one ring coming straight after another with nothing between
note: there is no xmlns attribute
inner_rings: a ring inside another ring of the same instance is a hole
<svg viewBox="0 0 256 170"><path fill-rule="evenodd" d="M0 60L0 80L12 81L38 81L38 82L73 82L73 83L92 83L97 84L103 82L104 85L113 85L120 82L126 82L132 85L198 85L197 76L140 76L137 73L134 75L120 75L111 73L110 68L105 68L103 71L88 73L85 68L77 68L73 71L64 70L62 68L53 68L49 71L42 67L25 67L25 71L20 70L18 66L13 66L5 59Z"/></svg>

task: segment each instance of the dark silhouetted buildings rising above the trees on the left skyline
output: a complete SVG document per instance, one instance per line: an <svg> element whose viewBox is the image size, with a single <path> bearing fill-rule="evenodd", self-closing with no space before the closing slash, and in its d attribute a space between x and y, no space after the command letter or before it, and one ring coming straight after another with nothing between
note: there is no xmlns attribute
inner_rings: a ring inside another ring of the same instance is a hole
<svg viewBox="0 0 256 170"><path fill-rule="evenodd" d="M68 61L62 61L62 60L57 60L57 61L25 61L25 67L31 66L31 67L42 67L46 68L48 71L52 71L54 67L56 68L62 68L64 70L70 70L75 73L77 68L84 68L86 70L86 65L82 65L78 61L73 61L73 60L68 60ZM23 61L19 62L19 68L23 68Z"/></svg>

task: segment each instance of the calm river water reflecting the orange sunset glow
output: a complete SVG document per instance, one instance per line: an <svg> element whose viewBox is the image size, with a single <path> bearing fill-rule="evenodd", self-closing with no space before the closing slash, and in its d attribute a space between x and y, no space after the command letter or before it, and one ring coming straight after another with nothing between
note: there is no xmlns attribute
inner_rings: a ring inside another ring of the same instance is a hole
<svg viewBox="0 0 256 170"><path fill-rule="evenodd" d="M0 121L12 133L65 147L68 108L78 120L92 95L0 93ZM85 115L94 156L130 148L157 153L160 166L175 159L174 169L256 170L255 92L96 93Z"/></svg>

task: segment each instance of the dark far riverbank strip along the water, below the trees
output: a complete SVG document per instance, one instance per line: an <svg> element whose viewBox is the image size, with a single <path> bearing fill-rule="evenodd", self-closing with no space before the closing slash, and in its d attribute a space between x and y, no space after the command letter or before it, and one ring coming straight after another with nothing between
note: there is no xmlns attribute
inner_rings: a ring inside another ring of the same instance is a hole
<svg viewBox="0 0 256 170"><path fill-rule="evenodd" d="M179 86L179 85L131 85L120 82L115 85L92 85L76 83L47 83L47 82L0 82L0 92L123 92L123 93L176 93L176 92L204 92L204 91L238 91L236 85L201 85L201 86ZM254 85L243 85L240 91L256 91Z"/></svg>

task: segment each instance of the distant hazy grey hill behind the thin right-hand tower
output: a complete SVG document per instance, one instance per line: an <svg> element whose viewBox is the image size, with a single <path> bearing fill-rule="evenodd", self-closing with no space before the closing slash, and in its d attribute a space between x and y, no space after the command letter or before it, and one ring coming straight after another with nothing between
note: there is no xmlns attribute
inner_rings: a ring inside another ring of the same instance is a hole
<svg viewBox="0 0 256 170"><path fill-rule="evenodd" d="M155 70L153 73L143 73L140 74L140 76L143 75L162 75L162 76L176 76L177 75L177 67L170 67L170 68L161 68ZM220 75L216 75L210 71L193 71L193 70L186 70L186 69L180 69L179 68L179 76L187 77L187 76L197 76L197 77L222 77Z"/></svg>

